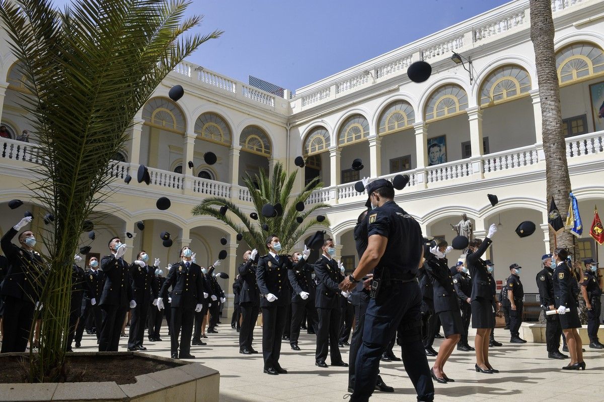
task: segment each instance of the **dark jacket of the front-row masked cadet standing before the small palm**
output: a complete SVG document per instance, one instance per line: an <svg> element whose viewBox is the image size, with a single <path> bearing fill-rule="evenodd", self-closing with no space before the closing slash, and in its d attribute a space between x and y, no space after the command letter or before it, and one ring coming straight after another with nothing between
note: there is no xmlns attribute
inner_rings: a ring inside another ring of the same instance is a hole
<svg viewBox="0 0 604 402"><path fill-rule="evenodd" d="M262 298L260 307L289 306L291 303L291 294L288 286L288 268L291 268L292 262L288 256L279 256L279 261L271 254L260 257L258 267L256 268L256 281ZM269 293L275 295L277 300L270 302L266 300Z"/></svg>

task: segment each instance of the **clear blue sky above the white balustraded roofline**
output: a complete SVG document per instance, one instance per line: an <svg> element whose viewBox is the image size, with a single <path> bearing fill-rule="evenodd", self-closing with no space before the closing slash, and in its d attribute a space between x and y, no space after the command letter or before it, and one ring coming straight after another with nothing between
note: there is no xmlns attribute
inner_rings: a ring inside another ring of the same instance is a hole
<svg viewBox="0 0 604 402"><path fill-rule="evenodd" d="M297 89L506 2L193 0L189 13L205 15L199 32L225 33L188 60L240 81L254 75Z"/></svg>

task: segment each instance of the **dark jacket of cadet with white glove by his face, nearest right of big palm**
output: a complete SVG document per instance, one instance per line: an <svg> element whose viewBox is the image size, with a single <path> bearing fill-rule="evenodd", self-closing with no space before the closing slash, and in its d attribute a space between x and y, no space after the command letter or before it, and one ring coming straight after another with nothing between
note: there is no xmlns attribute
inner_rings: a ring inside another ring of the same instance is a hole
<svg viewBox="0 0 604 402"><path fill-rule="evenodd" d="M129 265L124 259L115 259L115 254L104 256L101 259L104 285L99 306L118 306L118 309L129 307L130 300L134 300L132 284L130 283Z"/></svg>

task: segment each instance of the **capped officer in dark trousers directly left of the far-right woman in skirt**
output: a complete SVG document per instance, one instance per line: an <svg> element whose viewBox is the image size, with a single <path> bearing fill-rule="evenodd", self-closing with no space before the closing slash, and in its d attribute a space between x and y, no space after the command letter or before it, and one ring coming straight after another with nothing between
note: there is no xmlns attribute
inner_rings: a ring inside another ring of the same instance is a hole
<svg viewBox="0 0 604 402"><path fill-rule="evenodd" d="M541 257L543 269L538 272L535 280L539 289L539 300L541 308L545 311L556 310L554 301L554 270L551 268L551 254ZM568 359L568 356L560 352L560 337L562 327L557 314L545 315L545 342L547 344L547 357L550 359Z"/></svg>

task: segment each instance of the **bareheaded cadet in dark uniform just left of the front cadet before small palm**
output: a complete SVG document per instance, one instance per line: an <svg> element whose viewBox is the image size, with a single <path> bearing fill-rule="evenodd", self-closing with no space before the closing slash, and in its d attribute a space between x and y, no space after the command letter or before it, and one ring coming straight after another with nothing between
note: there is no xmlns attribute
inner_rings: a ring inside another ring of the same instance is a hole
<svg viewBox="0 0 604 402"><path fill-rule="evenodd" d="M255 354L252 348L254 327L260 313L260 291L256 282L256 257L258 250L248 250L243 253L243 263L237 271L242 278L241 294L239 295L239 309L241 310L241 328L239 330L239 353Z"/></svg>

